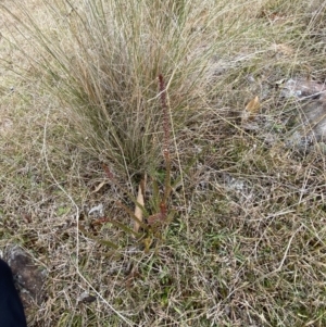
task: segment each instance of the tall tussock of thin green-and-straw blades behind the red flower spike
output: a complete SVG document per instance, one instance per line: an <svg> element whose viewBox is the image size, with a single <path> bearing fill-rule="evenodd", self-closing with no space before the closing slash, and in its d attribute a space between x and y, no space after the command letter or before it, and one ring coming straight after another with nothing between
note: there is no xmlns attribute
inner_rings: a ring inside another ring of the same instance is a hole
<svg viewBox="0 0 326 327"><path fill-rule="evenodd" d="M16 5L41 53L29 58L35 76L65 103L78 143L125 176L156 166L163 124L158 76L167 79L176 130L203 108L214 45L196 30L205 9L190 1L54 1L46 4L55 21L48 34ZM200 47L208 47L205 54L195 55Z"/></svg>

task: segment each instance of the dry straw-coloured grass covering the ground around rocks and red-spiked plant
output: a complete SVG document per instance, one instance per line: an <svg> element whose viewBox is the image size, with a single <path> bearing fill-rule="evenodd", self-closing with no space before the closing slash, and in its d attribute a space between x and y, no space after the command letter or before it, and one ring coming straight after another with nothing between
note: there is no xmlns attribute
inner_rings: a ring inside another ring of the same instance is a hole
<svg viewBox="0 0 326 327"><path fill-rule="evenodd" d="M121 18L135 10L134 1L108 2ZM162 29L167 7L147 2L134 22L108 16L110 49L108 43L95 47L101 30L92 25L97 21L89 25L91 34L76 34L78 25L67 29L80 22L72 17L75 13L96 17L84 11L87 1L76 3L71 15L62 2L0 4L26 26L30 22L23 14L32 10L41 30L17 28L22 25L1 10L0 249L17 243L48 269L47 297L28 312L29 326L325 326L325 152L322 144L311 151L286 144L287 122L298 104L281 99L276 87L298 76L324 81L324 1L178 1L189 9L184 16L176 13L184 24L180 39L171 25ZM61 11L52 20L57 4ZM135 56L117 42L125 34L133 36ZM154 35L160 47L151 51L137 41ZM48 38L43 45L58 52L45 52L36 36ZM82 51L77 36L89 36L95 58ZM105 92L97 74L104 72L99 67L108 56L115 67L123 62L116 74L125 84L105 71L112 77L109 96L121 103L112 106L118 120L103 130L100 123L108 121L89 124L87 111L76 109L95 103L101 113L97 101ZM164 72L154 68L158 58ZM43 64L52 79L40 70ZM104 215L129 223L116 201L131 204L130 199L105 180L103 161L126 189L135 186L133 176L147 169L164 180L158 73L171 78L172 177L183 173L183 180L171 200L174 221L161 244L145 253L123 229L93 222ZM90 90L86 98L83 88ZM97 96L90 99L92 92ZM261 100L259 129L243 130L241 111L255 96ZM123 118L133 109L142 113L142 98L152 104L139 121L148 122L151 135L145 143L140 125ZM114 128L130 131L140 146L121 136L124 151L116 151L102 134ZM135 148L141 160L126 162ZM98 204L104 213L88 214ZM77 221L92 238L78 232ZM113 251L93 238L120 248ZM96 301L79 301L83 293Z"/></svg>

